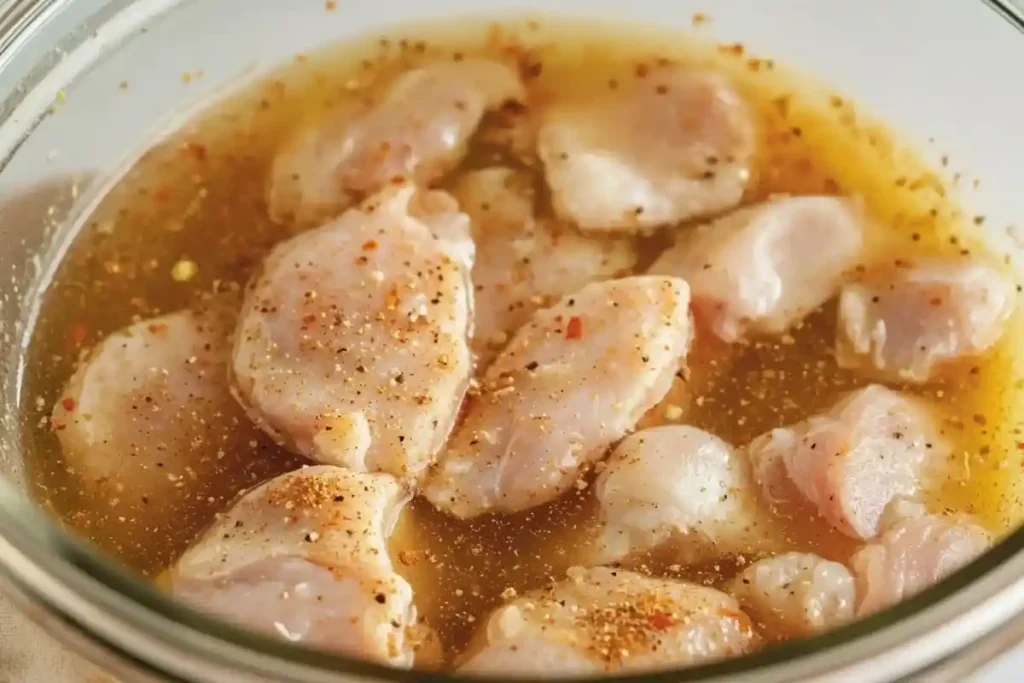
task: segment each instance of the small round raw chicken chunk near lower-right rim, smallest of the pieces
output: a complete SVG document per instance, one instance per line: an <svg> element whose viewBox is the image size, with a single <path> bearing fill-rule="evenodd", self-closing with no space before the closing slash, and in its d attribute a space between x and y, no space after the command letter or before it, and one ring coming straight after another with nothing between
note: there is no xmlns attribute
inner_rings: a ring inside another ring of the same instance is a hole
<svg viewBox="0 0 1024 683"><path fill-rule="evenodd" d="M850 570L807 553L784 553L746 567L730 585L744 610L770 631L810 636L853 620Z"/></svg>

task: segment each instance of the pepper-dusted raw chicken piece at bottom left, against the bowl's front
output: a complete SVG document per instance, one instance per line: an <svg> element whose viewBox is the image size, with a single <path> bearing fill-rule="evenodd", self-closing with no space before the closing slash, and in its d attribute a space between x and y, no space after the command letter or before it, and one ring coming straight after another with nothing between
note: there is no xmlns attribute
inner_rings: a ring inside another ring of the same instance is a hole
<svg viewBox="0 0 1024 683"><path fill-rule="evenodd" d="M411 666L413 591L387 553L407 500L385 474L317 466L282 475L200 537L171 571L172 591L292 642Z"/></svg>

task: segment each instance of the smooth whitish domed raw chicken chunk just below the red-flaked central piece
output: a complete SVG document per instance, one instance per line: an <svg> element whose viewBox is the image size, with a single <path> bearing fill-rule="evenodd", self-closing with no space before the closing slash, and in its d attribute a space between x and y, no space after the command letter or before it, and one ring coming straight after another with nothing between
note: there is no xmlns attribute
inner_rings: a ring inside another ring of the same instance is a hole
<svg viewBox="0 0 1024 683"><path fill-rule="evenodd" d="M684 555L701 548L726 555L768 543L750 463L696 427L654 427L627 437L607 460L596 490L601 531L595 563L667 544Z"/></svg>

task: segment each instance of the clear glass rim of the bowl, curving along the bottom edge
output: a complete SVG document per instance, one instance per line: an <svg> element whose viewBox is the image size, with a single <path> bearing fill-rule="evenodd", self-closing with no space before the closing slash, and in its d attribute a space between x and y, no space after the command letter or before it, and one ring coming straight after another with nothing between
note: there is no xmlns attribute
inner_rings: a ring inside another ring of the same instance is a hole
<svg viewBox="0 0 1024 683"><path fill-rule="evenodd" d="M182 1L166 0L163 10ZM1024 8L1012 0L981 0L1024 35ZM0 2L0 72L48 17L71 0ZM90 14L68 49L99 26L117 20L132 0L113 0ZM48 55L52 56L52 55ZM43 60L0 102L9 115L45 78ZM37 120L20 122L20 137L0 150L0 171ZM5 123L10 125L10 122ZM13 349L12 353L16 353ZM18 387L14 387L16 390ZM12 401L10 404L16 404ZM54 561L56 560L56 561ZM402 671L316 651L204 615L106 560L88 542L66 533L25 493L0 480L0 587L66 644L113 670L181 683L225 680L329 683L352 680L518 683ZM1024 527L980 558L921 594L828 633L795 639L744 656L682 670L601 678L618 683L684 681L892 680L968 647L1024 613ZM928 646L925 647L925 643Z"/></svg>

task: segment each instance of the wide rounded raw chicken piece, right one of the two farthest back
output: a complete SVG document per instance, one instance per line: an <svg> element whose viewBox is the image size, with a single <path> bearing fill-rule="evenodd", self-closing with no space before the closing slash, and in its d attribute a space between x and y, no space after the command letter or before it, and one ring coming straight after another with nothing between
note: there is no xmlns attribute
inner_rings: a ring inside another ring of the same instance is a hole
<svg viewBox="0 0 1024 683"><path fill-rule="evenodd" d="M724 77L666 68L552 106L538 145L558 215L584 229L636 230L739 204L756 135Z"/></svg>

